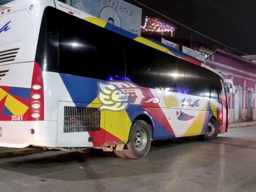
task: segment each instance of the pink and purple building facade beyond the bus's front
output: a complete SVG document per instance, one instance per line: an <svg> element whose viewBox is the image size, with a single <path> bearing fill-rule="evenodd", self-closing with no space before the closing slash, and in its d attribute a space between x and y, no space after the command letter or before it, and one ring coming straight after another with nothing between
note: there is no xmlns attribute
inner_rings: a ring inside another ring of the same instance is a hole
<svg viewBox="0 0 256 192"><path fill-rule="evenodd" d="M204 48L200 48L200 52L211 54ZM256 63L216 49L206 64L234 82L235 94L229 95L229 121L256 120Z"/></svg>

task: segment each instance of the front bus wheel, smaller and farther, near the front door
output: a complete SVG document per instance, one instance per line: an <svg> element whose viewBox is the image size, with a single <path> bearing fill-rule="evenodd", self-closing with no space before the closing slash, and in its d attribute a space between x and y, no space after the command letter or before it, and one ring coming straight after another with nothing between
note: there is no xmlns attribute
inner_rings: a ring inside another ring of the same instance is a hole
<svg viewBox="0 0 256 192"><path fill-rule="evenodd" d="M219 134L218 122L214 118L211 118L210 121L208 122L207 133L204 135L199 135L199 138L205 141L216 140L218 134Z"/></svg>

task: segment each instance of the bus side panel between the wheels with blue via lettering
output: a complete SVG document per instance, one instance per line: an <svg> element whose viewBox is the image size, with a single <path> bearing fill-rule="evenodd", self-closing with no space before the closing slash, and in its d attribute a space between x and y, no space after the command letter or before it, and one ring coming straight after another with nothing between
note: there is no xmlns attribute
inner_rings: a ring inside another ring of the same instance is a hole
<svg viewBox="0 0 256 192"><path fill-rule="evenodd" d="M147 99L159 99L158 104L142 104L156 122L154 140L205 134L209 119L217 118L221 111L221 104L215 99L149 88L143 90Z"/></svg>

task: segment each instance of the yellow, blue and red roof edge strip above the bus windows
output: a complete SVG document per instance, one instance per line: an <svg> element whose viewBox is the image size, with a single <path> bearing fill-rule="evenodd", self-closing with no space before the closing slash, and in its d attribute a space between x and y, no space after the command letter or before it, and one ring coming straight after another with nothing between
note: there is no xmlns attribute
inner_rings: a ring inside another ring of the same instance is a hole
<svg viewBox="0 0 256 192"><path fill-rule="evenodd" d="M141 37L141 36L138 36L134 33L131 33L125 29L122 29L120 27L117 27L117 26L114 26L113 24L110 24L106 21L103 21L97 17L94 17L92 15L89 15L89 14L81 14L82 11L74 8L74 7L71 7L69 5L66 5L65 3L62 3L60 1L57 1L58 3L56 3L56 8L57 9L60 9L64 12L67 12L73 16L77 16L81 19L84 19L90 23L93 23L97 26L100 26L102 28L105 28L105 29L108 29L110 31L113 31L117 34L120 34L122 36L125 36L125 37L128 37L130 39L133 39L134 41L137 41L137 42L140 42L140 43L143 43L145 45L148 45L149 47L152 47L154 49L157 49L157 50L160 50L160 51L163 51L169 55L173 55L175 57L178 57L180 59L183 59L185 61L188 61L190 63L193 63L195 65L199 65L199 66L202 66L202 67L205 67L207 68L208 70L211 70L213 71L214 73L218 74L221 78L222 78L222 75L217 72L216 70L214 70L212 67L209 67L207 66L206 64L202 63L201 61L199 61L198 59L195 59L194 57L191 57L190 55L187 55L185 53L183 53L182 51L179 51L177 49L174 49L168 45L165 45L159 41L156 41L156 40L153 40L151 38L144 38L144 37ZM84 13L84 12L83 12ZM83 17L83 16L86 16L86 17Z"/></svg>

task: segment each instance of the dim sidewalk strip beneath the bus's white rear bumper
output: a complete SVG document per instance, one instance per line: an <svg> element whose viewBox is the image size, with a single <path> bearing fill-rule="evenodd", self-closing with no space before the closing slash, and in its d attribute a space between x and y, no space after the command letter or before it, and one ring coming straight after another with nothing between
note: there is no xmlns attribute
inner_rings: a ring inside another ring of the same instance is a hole
<svg viewBox="0 0 256 192"><path fill-rule="evenodd" d="M14 155L25 155L36 152L42 152L43 149L28 149L28 148L9 148L9 147L0 147L0 158Z"/></svg>

